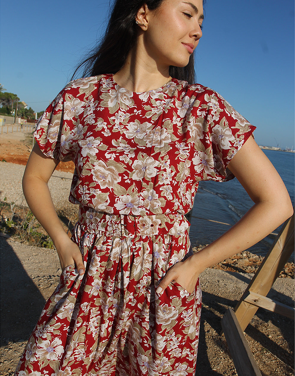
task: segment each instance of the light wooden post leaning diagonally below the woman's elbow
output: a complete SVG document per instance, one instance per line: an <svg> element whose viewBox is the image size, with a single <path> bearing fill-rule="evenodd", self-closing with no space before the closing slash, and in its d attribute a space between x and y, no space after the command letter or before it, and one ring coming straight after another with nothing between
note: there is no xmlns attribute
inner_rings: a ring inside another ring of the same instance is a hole
<svg viewBox="0 0 295 376"><path fill-rule="evenodd" d="M277 239L235 307L235 314L243 331L258 309L257 306L244 301L245 297L248 296L248 291L266 296L293 250L294 214L284 223Z"/></svg>

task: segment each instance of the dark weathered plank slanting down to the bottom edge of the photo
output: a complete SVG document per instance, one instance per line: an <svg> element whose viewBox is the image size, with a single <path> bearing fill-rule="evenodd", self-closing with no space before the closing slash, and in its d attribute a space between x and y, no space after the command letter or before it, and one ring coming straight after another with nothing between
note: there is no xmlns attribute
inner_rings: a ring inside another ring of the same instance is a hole
<svg viewBox="0 0 295 376"><path fill-rule="evenodd" d="M231 308L223 315L221 326L238 375L261 376L235 312Z"/></svg>

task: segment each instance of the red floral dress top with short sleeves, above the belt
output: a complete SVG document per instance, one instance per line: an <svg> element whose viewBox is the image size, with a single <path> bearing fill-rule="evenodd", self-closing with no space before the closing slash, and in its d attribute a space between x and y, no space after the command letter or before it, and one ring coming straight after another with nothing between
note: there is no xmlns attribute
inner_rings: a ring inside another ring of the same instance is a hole
<svg viewBox="0 0 295 376"><path fill-rule="evenodd" d="M73 160L69 200L109 214L186 214L200 180L226 166L255 127L202 85L172 79L134 93L113 76L69 83L39 120L45 155Z"/></svg>

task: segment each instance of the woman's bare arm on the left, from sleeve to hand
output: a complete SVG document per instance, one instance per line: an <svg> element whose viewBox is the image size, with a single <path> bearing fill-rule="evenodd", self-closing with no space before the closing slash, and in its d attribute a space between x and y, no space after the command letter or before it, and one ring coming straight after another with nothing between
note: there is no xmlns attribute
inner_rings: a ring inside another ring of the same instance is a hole
<svg viewBox="0 0 295 376"><path fill-rule="evenodd" d="M83 274L80 249L63 229L48 188L48 180L58 164L58 160L46 157L36 143L24 171L23 192L32 213L51 237L62 270L75 263L79 274Z"/></svg>

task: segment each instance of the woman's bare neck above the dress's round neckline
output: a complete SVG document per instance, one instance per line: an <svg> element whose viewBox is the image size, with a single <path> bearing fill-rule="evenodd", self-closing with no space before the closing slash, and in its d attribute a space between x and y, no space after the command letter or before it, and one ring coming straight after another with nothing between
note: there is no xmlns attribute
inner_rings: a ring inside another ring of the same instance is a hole
<svg viewBox="0 0 295 376"><path fill-rule="evenodd" d="M113 77L118 85L134 92L160 88L171 79L169 67L158 67L140 44L130 50L125 64Z"/></svg>

